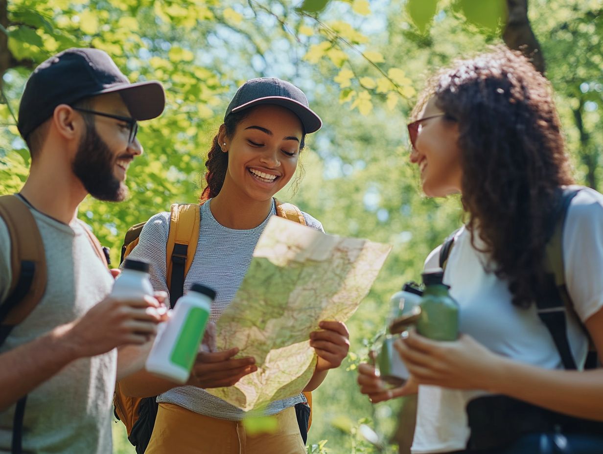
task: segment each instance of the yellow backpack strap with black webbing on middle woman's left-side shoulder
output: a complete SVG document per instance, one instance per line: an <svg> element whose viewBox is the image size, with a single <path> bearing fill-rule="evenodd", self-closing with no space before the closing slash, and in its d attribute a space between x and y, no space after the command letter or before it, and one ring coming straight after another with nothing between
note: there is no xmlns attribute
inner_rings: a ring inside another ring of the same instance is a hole
<svg viewBox="0 0 603 454"><path fill-rule="evenodd" d="M199 240L200 205L174 203L166 247L169 301L172 307L184 292L185 276L191 268Z"/></svg>

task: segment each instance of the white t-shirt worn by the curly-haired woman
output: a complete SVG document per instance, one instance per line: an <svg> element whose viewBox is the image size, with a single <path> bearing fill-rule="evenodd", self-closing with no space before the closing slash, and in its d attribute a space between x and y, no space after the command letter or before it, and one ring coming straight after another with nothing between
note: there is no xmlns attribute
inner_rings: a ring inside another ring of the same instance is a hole
<svg viewBox="0 0 603 454"><path fill-rule="evenodd" d="M477 240L479 246L479 239ZM432 251L426 268L438 266L440 248ZM603 306L603 195L584 188L573 198L563 234L567 291L584 322ZM459 303L459 330L499 355L546 369L563 369L551 334L538 318L534 304L511 304L507 282L487 273L484 254L471 245L463 227L444 273L450 294ZM588 339L575 318L567 318L567 335L578 368L584 367ZM485 391L419 386L417 426L412 453L461 450L469 439L465 407Z"/></svg>

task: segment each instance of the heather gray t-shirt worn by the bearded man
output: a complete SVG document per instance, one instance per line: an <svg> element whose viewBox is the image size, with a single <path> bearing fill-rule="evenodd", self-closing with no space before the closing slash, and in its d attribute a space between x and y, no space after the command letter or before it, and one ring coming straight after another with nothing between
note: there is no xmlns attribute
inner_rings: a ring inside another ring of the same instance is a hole
<svg viewBox="0 0 603 454"><path fill-rule="evenodd" d="M109 294L113 278L90 243L86 226L55 221L32 210L48 268L42 300L0 346L0 353L84 315ZM0 219L0 303L11 282L10 236ZM24 453L107 454L112 452L111 415L116 350L66 365L28 394ZM10 452L14 405L0 411L0 453Z"/></svg>

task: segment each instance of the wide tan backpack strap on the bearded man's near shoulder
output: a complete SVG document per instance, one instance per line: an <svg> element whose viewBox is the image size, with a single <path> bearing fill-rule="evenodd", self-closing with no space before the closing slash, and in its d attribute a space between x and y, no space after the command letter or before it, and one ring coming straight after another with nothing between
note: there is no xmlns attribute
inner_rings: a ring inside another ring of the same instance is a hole
<svg viewBox="0 0 603 454"><path fill-rule="evenodd" d="M46 290L46 254L36 219L16 195L0 197L0 217L11 238L11 285L0 304L2 325L21 323L34 310Z"/></svg>

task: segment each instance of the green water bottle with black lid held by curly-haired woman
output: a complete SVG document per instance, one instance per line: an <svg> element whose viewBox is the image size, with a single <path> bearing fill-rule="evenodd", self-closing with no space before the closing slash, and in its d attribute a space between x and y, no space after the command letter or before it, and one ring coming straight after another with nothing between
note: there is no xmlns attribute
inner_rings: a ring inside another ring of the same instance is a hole
<svg viewBox="0 0 603 454"><path fill-rule="evenodd" d="M423 276L423 297L419 306L417 332L435 341L454 341L458 338L458 303L450 296L450 286L443 283L444 270L426 270Z"/></svg>

